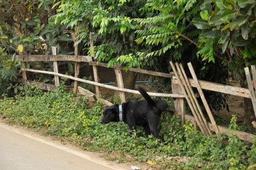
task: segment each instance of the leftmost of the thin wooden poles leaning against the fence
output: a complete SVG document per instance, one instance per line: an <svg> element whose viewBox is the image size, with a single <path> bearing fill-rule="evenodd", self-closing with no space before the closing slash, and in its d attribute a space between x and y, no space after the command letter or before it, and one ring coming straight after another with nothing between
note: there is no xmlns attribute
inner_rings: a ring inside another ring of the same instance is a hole
<svg viewBox="0 0 256 170"><path fill-rule="evenodd" d="M187 100L188 105L189 105L189 107L190 107L190 109L191 109L191 111L192 111L192 114L194 115L195 120L196 120L197 124L199 125L200 130L202 131L202 133L203 133L204 135L206 135L206 134L205 134L205 130L204 130L203 126L201 125L201 122L199 121L199 119L198 119L198 117L197 117L196 111L195 111L194 107L192 106L191 100L189 99L189 97L188 97L188 95L187 95L187 92L186 92L186 90L185 90L185 88L184 88L184 85L182 84L182 82L181 82L181 80L180 80L180 78L179 78L179 76L178 76L178 74L177 74L175 65L172 63L172 61L170 61L170 64L171 64L172 70L173 70L174 73L175 73L175 76L177 77L177 81L179 82L180 88L181 88L182 91L183 91L183 94L184 94L184 96L185 96L185 99Z"/></svg>

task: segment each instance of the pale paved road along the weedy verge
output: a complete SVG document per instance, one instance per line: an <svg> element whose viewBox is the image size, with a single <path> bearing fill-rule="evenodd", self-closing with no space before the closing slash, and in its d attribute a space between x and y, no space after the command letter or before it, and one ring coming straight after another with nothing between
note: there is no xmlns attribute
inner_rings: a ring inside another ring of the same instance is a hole
<svg viewBox="0 0 256 170"><path fill-rule="evenodd" d="M81 151L0 121L0 169L125 170L131 169L131 165L106 161L96 153Z"/></svg>

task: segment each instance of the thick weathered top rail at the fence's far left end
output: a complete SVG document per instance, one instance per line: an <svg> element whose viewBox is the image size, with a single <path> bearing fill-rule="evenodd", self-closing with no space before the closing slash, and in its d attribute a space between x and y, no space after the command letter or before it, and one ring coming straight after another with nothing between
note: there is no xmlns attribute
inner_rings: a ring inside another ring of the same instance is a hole
<svg viewBox="0 0 256 170"><path fill-rule="evenodd" d="M20 61L75 61L89 62L88 56L70 55L16 55L15 60Z"/></svg>

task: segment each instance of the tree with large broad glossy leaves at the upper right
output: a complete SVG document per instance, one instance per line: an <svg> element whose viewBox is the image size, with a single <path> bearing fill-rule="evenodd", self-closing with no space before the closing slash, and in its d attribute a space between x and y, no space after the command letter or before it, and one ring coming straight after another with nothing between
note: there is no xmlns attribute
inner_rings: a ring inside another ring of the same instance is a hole
<svg viewBox="0 0 256 170"><path fill-rule="evenodd" d="M256 64L255 5L254 0L204 1L200 18L193 19L195 26L203 30L198 54L209 62L221 59L237 73L242 88L247 86L244 68ZM249 98L244 101L245 123L255 131L251 125L255 120L253 105Z"/></svg>

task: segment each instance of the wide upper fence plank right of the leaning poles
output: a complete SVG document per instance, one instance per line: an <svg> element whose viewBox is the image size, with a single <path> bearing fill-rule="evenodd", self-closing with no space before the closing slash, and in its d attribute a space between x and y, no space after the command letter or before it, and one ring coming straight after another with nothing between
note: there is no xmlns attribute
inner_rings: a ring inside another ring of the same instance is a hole
<svg viewBox="0 0 256 170"><path fill-rule="evenodd" d="M196 88L195 81L193 78L188 78L189 83L192 87ZM177 78L174 77L173 80L174 83L178 84ZM234 96L241 96L241 97L246 97L246 98L251 98L249 89L246 88L240 88L236 86L230 86L230 85L223 85L223 84L218 84L215 82L208 82L204 80L199 80L199 84L202 89L205 90L211 90L214 92L220 92L220 93L226 93L226 94L232 94Z"/></svg>

